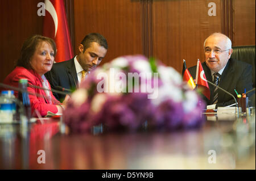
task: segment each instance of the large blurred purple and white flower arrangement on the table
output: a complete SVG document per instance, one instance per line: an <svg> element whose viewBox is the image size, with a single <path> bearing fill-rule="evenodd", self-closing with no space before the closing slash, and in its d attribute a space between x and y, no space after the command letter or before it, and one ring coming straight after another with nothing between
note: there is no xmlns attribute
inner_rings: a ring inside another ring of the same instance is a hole
<svg viewBox="0 0 256 181"><path fill-rule="evenodd" d="M200 127L204 107L175 69L137 55L94 69L72 93L63 117L71 132L88 132L100 124L109 131L145 125L176 130Z"/></svg>

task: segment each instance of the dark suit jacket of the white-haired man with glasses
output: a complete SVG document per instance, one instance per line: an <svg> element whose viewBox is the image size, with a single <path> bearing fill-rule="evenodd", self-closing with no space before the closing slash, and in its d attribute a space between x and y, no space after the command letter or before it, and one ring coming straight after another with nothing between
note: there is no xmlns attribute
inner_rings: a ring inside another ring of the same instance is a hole
<svg viewBox="0 0 256 181"><path fill-rule="evenodd" d="M213 82L212 80L212 74L210 73L210 69L208 66L203 62L202 64L205 77L208 81ZM191 73L193 78L196 78L196 66L193 66L192 68L189 68L189 73ZM214 86L209 85L210 89L210 100L204 97L205 102L207 102L207 105L212 104L213 102L213 91ZM229 59L228 63L226 64L225 69L223 70L221 74L220 81L218 83L218 86L220 86L222 89L230 92L234 95L235 98L237 98L236 92L234 89L237 90L238 94L244 93L245 89L246 91L249 91L253 89L253 80L252 80L252 68L250 64L246 64L245 62L233 60L232 58ZM246 96L250 96L246 95ZM221 91L218 89L218 106L228 106L230 104L233 104L234 99L232 96L226 94L224 91Z"/></svg>

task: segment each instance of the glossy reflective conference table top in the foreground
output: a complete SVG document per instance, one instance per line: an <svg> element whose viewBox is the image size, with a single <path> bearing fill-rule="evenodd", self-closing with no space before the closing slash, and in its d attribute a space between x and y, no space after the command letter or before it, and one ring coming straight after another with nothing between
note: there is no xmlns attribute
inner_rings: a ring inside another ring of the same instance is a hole
<svg viewBox="0 0 256 181"><path fill-rule="evenodd" d="M65 134L53 119L0 124L0 169L255 169L255 113L220 117L176 132Z"/></svg>

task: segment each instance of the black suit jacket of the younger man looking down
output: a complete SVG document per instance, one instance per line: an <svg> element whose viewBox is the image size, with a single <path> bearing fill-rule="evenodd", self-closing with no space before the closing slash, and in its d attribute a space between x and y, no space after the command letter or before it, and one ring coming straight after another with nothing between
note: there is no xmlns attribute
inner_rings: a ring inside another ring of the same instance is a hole
<svg viewBox="0 0 256 181"><path fill-rule="evenodd" d="M78 84L74 58L53 64L51 71L48 71L44 75L51 84L52 89L56 89L56 86L60 86L65 89L74 90ZM65 95L57 93L53 93L53 95L57 100L60 100L61 102L65 98Z"/></svg>

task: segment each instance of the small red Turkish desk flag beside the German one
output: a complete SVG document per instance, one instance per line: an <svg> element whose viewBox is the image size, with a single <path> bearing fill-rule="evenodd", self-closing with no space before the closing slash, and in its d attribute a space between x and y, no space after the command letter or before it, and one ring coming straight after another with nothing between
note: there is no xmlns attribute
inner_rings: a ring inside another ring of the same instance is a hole
<svg viewBox="0 0 256 181"><path fill-rule="evenodd" d="M207 97L207 99L210 100L210 89L208 86L208 82L205 81L207 78L204 74L204 69L202 67L202 64L199 60L197 60L197 67L196 67L196 85L197 87L203 89L202 93L204 96Z"/></svg>

